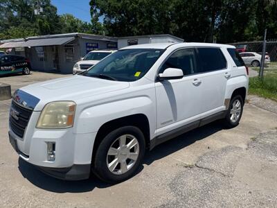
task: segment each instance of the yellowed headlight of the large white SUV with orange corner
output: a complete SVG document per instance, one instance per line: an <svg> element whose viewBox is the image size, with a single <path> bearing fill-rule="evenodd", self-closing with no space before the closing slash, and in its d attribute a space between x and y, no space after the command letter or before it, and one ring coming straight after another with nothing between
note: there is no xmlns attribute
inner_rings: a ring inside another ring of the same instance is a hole
<svg viewBox="0 0 277 208"><path fill-rule="evenodd" d="M73 126L76 103L57 101L45 105L37 121L37 128L69 128Z"/></svg>

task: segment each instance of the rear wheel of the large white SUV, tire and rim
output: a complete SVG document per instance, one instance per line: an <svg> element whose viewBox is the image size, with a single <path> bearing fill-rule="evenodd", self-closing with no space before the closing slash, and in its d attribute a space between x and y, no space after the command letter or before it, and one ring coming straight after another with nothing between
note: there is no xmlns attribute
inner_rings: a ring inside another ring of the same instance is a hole
<svg viewBox="0 0 277 208"><path fill-rule="evenodd" d="M233 128L238 125L242 117L243 105L242 96L236 95L231 98L229 109L227 110L224 119L227 128Z"/></svg>

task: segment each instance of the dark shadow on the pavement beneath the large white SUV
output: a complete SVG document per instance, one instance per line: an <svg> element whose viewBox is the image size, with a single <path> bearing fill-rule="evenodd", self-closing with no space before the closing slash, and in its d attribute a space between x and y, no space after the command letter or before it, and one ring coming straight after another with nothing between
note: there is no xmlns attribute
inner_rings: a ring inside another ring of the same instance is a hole
<svg viewBox="0 0 277 208"><path fill-rule="evenodd" d="M195 141L204 139L209 135L213 135L215 132L222 130L222 125L219 125L219 121L213 122L211 124L205 125L201 128L187 132L184 135L171 139L166 143L163 143L149 153L146 153L143 164L152 164L157 159L166 157L172 153L175 153L181 148L185 148ZM94 175L91 175L89 180L82 181L64 181L58 180L54 177L50 177L40 172L35 166L28 164L24 159L19 157L19 171L21 174L36 187L44 189L46 191L51 191L55 193L82 193L92 191L94 188L103 189L111 187L112 184L106 184L101 182ZM136 174L143 171L143 166L139 167Z"/></svg>

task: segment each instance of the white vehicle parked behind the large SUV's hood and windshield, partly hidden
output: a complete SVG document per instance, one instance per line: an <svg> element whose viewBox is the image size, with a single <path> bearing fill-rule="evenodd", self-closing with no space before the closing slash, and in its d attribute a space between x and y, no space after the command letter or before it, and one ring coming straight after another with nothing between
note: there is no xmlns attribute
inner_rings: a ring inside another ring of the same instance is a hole
<svg viewBox="0 0 277 208"><path fill-rule="evenodd" d="M79 62L76 62L73 66L73 74L86 71L90 67L97 64L100 60L105 58L107 55L116 51L102 50L102 51L90 51L87 55L82 58Z"/></svg>

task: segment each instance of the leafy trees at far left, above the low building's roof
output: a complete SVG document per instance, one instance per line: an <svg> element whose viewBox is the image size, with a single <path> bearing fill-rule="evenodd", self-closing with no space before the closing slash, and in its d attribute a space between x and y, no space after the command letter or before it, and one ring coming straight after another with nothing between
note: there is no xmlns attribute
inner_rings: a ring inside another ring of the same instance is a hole
<svg viewBox="0 0 277 208"><path fill-rule="evenodd" d="M35 15L35 0L0 0L0 33L10 34L10 38L17 37L8 31L10 28L23 30L22 35L59 33L60 17L57 15L57 8L51 5L50 0L40 2L44 12Z"/></svg>

